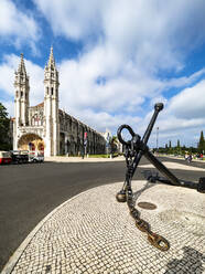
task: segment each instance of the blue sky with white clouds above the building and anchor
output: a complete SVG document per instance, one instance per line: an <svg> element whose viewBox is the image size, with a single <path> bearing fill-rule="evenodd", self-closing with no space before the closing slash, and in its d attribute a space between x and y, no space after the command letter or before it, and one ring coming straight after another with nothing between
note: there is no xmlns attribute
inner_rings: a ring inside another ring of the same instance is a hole
<svg viewBox="0 0 205 274"><path fill-rule="evenodd" d="M93 128L143 135L150 146L196 146L205 130L204 0L0 0L0 102L13 116L14 70L24 53L30 103L43 101L50 48L60 106Z"/></svg>

